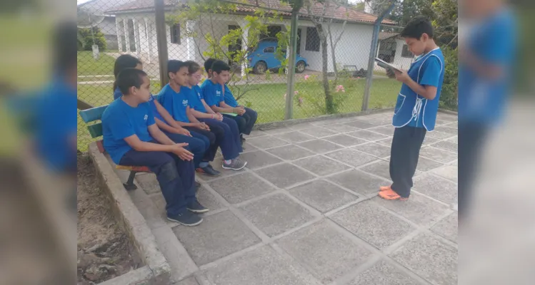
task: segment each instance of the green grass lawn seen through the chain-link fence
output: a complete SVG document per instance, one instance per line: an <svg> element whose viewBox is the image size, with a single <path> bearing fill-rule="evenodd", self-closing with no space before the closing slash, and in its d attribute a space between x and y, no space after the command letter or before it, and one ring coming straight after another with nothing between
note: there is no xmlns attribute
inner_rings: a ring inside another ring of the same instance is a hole
<svg viewBox="0 0 535 285"><path fill-rule="evenodd" d="M351 79L339 83L345 88L345 93L334 93L334 96L343 96L339 113L359 112L361 110L362 98L364 95L364 79ZM106 105L113 100L112 83L100 85L79 85L78 97L91 105ZM255 90L246 93L244 98L239 100L242 105L250 104L251 108L259 113L257 123L269 123L284 120L284 104L286 93L285 83L258 84L251 86ZM391 108L396 103L396 97L401 88L401 83L394 79L376 79L371 88L369 98L370 109ZM160 83L152 81L152 93L159 93ZM232 89L232 88L231 88ZM298 96L303 96L304 102L301 106L294 103L294 118L311 118L324 115L324 95L323 88L319 83L299 82L296 88ZM314 103L314 101L318 103ZM91 141L85 123L78 116L78 143L79 150L85 151Z"/></svg>

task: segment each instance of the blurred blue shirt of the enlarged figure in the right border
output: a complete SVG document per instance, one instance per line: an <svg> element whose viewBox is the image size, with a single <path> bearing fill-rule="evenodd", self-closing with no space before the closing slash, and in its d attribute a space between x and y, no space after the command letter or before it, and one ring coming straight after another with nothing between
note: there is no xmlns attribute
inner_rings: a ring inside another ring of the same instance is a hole
<svg viewBox="0 0 535 285"><path fill-rule="evenodd" d="M459 62L459 122L494 124L502 117L514 78L517 26L513 11L501 9L476 23L466 43L481 61L504 68L504 76L479 76Z"/></svg>

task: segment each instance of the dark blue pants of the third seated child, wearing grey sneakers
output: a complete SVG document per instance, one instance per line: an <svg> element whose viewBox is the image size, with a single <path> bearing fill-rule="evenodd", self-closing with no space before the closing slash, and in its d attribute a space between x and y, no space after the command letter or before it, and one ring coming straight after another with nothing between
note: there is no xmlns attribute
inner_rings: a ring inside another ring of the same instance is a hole
<svg viewBox="0 0 535 285"><path fill-rule="evenodd" d="M216 135L216 141L221 147L221 153L225 160L233 160L243 151L238 125L234 120L223 118L221 122L216 119L201 119L201 122L209 125L211 132Z"/></svg>

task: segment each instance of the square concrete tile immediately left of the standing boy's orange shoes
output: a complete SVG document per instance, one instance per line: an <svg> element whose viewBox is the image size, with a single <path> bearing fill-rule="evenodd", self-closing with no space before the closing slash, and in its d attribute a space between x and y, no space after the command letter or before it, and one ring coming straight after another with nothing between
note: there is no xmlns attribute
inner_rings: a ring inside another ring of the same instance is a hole
<svg viewBox="0 0 535 285"><path fill-rule="evenodd" d="M379 192L379 186L390 185L390 182L374 177L360 170L351 170L329 177L329 180L362 195Z"/></svg>

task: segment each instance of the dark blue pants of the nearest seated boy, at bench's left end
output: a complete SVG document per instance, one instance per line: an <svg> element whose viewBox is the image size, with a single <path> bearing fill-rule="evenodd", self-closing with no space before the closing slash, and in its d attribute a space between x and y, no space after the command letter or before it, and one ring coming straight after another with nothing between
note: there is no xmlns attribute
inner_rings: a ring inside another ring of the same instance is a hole
<svg viewBox="0 0 535 285"><path fill-rule="evenodd" d="M155 142L156 143L156 142ZM156 174L169 217L184 212L195 199L195 168L193 161L181 160L168 152L130 150L120 165L147 166Z"/></svg>

